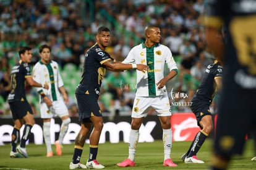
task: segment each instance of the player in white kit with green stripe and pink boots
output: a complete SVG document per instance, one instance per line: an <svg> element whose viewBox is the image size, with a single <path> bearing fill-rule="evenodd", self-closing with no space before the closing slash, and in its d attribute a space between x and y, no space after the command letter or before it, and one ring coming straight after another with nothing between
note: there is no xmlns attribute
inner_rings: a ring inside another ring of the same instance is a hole
<svg viewBox="0 0 256 170"><path fill-rule="evenodd" d="M166 82L177 75L176 62L171 50L160 44L160 28L150 25L145 28L145 42L134 46L123 63L147 64L147 72L137 70L137 91L132 109L132 123L129 135L129 157L117 166L135 166L135 151L139 140L139 129L150 107L156 110L163 128L163 166L177 166L170 158L173 132L171 130L171 107ZM164 64L169 74L164 77Z"/></svg>

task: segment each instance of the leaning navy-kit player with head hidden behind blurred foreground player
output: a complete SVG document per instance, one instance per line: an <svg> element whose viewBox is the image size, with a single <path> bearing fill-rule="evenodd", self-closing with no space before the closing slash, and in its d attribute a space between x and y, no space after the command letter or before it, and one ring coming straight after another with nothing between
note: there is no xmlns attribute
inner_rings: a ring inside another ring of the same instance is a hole
<svg viewBox="0 0 256 170"><path fill-rule="evenodd" d="M216 91L221 88L222 75L223 67L220 62L215 60L205 70L200 85L191 100L190 108L197 117L197 124L201 130L195 135L187 153L181 157L185 163L204 163L197 158L197 152L213 129L213 118L209 107Z"/></svg>

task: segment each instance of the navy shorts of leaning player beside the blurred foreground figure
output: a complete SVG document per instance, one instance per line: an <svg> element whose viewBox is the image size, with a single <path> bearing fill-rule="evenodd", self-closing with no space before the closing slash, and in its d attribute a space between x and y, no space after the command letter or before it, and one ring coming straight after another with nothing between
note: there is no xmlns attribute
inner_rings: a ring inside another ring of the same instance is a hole
<svg viewBox="0 0 256 170"><path fill-rule="evenodd" d="M209 102L202 101L196 97L192 98L191 102L190 109L195 114L195 117L197 117L197 125L200 126L199 122L202 120L202 117L211 115Z"/></svg>

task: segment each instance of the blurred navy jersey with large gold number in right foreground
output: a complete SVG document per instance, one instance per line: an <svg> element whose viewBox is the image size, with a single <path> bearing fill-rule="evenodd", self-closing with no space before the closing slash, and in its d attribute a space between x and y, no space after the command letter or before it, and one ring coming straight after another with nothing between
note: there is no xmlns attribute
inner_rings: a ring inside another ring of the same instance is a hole
<svg viewBox="0 0 256 170"><path fill-rule="evenodd" d="M229 84L256 88L256 1L208 1L204 24L221 27L224 23L224 74Z"/></svg>

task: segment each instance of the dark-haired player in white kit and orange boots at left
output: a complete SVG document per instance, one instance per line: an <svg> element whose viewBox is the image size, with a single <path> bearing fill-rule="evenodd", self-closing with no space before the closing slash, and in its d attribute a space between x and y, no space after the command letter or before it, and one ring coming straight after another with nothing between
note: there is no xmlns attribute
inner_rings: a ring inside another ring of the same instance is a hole
<svg viewBox="0 0 256 170"><path fill-rule="evenodd" d="M51 60L51 48L48 45L41 45L39 48L41 60L33 67L33 79L36 82L46 82L49 89L36 88L40 95L40 114L43 119L43 135L47 149L47 157L53 156L51 148L51 118L59 116L62 120L61 132L56 140L56 155L62 155L62 141L67 133L70 118L66 104L69 98L63 87L63 81L59 74L58 63ZM65 104L66 103L66 104Z"/></svg>

